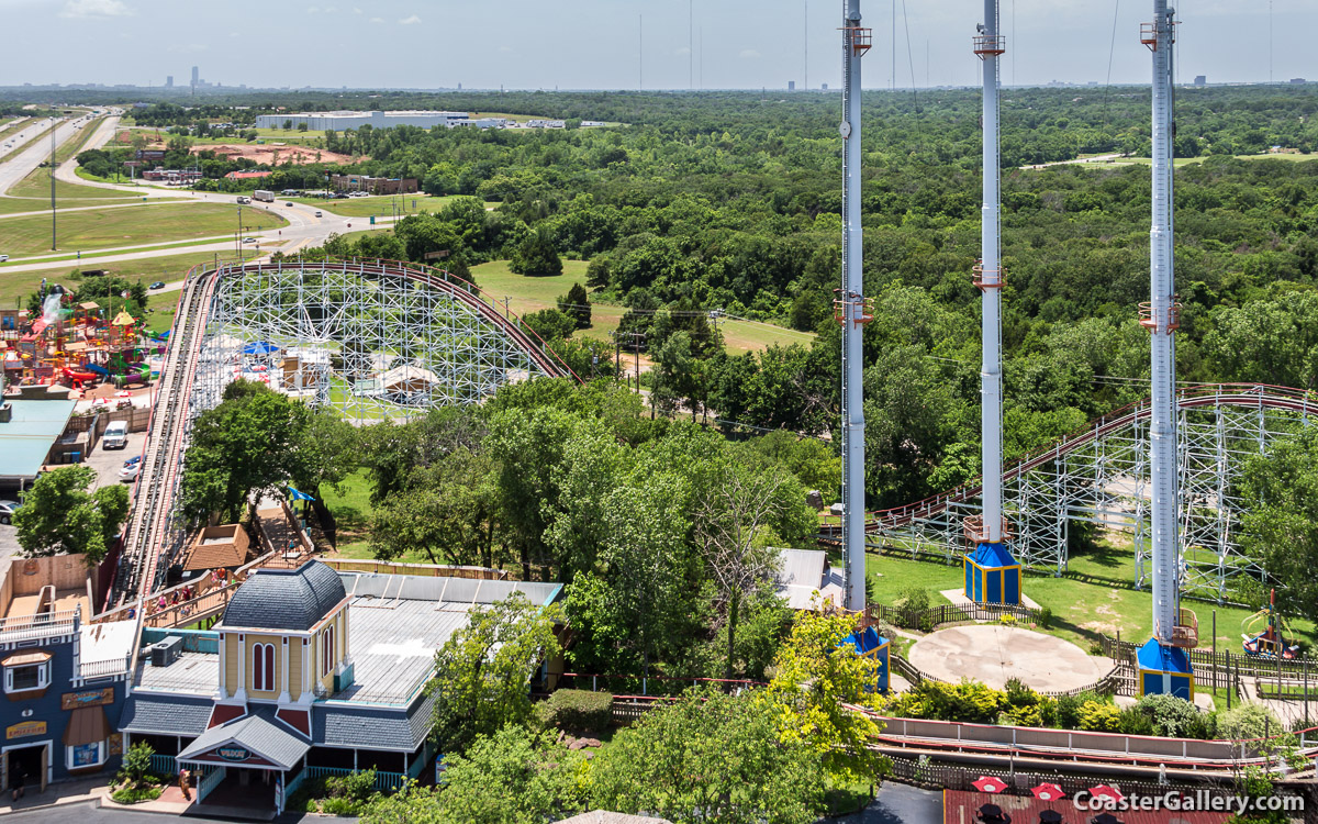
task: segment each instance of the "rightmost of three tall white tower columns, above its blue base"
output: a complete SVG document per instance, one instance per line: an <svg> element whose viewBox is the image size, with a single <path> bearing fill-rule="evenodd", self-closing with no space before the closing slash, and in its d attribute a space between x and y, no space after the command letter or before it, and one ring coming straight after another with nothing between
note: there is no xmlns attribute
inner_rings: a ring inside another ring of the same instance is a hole
<svg viewBox="0 0 1318 824"><path fill-rule="evenodd" d="M1153 635L1161 646L1176 639L1180 618L1180 489L1177 481L1176 328L1172 224L1172 44L1173 15L1153 0L1153 24L1141 41L1153 55L1153 216L1149 229L1149 291L1143 323L1149 331L1152 398L1149 410L1149 533L1153 547ZM1149 42L1152 40L1152 42Z"/></svg>

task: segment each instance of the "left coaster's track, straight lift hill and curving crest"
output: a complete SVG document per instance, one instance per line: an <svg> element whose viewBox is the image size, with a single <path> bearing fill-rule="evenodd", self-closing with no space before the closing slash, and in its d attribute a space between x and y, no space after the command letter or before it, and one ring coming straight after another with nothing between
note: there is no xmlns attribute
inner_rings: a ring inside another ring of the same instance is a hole
<svg viewBox="0 0 1318 824"><path fill-rule="evenodd" d="M134 485L133 506L123 537L115 585L107 606L129 604L156 592L163 583L173 556L182 550L183 530L175 522L175 504L183 452L191 421L200 410L191 407L198 356L207 338L207 324L216 289L225 277L261 272L318 270L326 264L277 262L245 266L198 266L188 272L171 330L169 351L161 365L148 440ZM515 314L501 314L474 285L442 269L401 261L331 261L331 266L364 278L406 278L438 290L455 303L492 324L547 376L580 378Z"/></svg>

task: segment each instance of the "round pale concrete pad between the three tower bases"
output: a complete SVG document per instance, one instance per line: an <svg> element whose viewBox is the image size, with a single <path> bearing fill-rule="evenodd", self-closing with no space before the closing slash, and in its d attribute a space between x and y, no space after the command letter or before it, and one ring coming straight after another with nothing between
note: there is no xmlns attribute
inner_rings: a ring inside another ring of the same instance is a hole
<svg viewBox="0 0 1318 824"><path fill-rule="evenodd" d="M917 641L907 658L934 678L969 678L995 690L1012 678L1039 691L1074 690L1110 668L1069 641L1000 624L941 629Z"/></svg>

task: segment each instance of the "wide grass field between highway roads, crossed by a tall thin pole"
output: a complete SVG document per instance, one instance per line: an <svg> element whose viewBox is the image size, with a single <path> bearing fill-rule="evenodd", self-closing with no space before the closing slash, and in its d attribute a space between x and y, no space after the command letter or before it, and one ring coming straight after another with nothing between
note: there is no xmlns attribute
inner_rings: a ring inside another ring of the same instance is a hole
<svg viewBox="0 0 1318 824"><path fill-rule="evenodd" d="M246 210L244 232L273 229L287 221L265 210ZM237 212L217 203L170 203L141 208L69 212L59 219L63 249L104 249L146 243L170 243L236 231ZM7 254L36 254L50 248L50 220L41 216L4 221Z"/></svg>

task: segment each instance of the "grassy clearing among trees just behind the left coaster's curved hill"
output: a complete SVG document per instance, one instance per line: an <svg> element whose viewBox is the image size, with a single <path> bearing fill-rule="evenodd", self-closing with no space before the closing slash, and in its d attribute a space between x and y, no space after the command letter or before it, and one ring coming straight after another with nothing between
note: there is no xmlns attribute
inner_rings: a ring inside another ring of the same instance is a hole
<svg viewBox="0 0 1318 824"><path fill-rule="evenodd" d="M539 311L542 309L555 309L556 299L565 295L573 283L585 283L587 261L564 260L563 274L555 277L526 277L514 274L507 268L507 261L490 261L472 268L472 277L476 285L496 303L502 306L503 298L509 298L509 309L519 315ZM623 306L590 305L590 328L581 330L577 335L593 338L596 340L612 340L609 334L618 328ZM728 352L741 355L755 352L771 344L788 345L800 343L809 345L815 335L797 332L796 330L774 326L771 323L757 323L750 320L720 320L718 328L724 334L724 343Z"/></svg>

